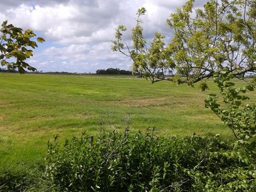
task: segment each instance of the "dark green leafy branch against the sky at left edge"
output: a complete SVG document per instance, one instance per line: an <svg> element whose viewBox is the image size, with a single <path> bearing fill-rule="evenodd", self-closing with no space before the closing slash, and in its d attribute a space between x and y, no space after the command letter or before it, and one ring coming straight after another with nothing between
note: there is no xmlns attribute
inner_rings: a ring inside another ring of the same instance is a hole
<svg viewBox="0 0 256 192"><path fill-rule="evenodd" d="M35 71L36 68L26 63L26 59L33 56L33 51L28 47L35 49L37 47L33 38L36 36L33 31L27 29L23 32L21 28L17 28L12 24L7 24L7 20L1 25L0 33L0 62L2 66L6 66L10 70L18 68L20 74L25 69ZM37 42L44 42L44 38L36 38Z"/></svg>

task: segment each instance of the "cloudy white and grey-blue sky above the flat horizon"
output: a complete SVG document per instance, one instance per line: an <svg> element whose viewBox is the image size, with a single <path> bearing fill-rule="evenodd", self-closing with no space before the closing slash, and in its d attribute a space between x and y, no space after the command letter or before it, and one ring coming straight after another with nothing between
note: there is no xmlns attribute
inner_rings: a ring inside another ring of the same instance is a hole
<svg viewBox="0 0 256 192"><path fill-rule="evenodd" d="M138 8L144 6L145 37L156 31L172 36L166 19L186 0L1 0L0 22L32 29L45 38L28 63L44 72L95 72L99 68L130 69L131 60L111 51L115 28L134 26ZM201 1L201 0L200 0ZM196 3L200 3L200 1Z"/></svg>

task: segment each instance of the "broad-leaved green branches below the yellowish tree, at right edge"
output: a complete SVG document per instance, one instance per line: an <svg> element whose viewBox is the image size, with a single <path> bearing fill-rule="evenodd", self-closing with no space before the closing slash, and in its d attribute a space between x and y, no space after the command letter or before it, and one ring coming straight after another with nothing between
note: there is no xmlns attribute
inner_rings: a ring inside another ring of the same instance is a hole
<svg viewBox="0 0 256 192"><path fill-rule="evenodd" d="M250 99L245 93L254 90L255 82L237 88L231 81L234 77L228 68L214 75L223 104L216 95L210 94L205 99L205 107L210 108L230 128L237 139L237 147L245 148L256 161L256 105L243 104L244 100Z"/></svg>

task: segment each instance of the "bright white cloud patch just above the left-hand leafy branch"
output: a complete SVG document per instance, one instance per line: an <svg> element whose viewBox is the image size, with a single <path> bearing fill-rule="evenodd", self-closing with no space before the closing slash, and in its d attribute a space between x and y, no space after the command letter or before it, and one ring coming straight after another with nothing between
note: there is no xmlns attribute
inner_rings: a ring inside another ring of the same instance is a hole
<svg viewBox="0 0 256 192"><path fill-rule="evenodd" d="M56 40L76 33L76 29L72 28L69 22L76 17L76 14L76 8L70 4L45 7L20 4L6 11L7 17L13 24L42 31L47 37Z"/></svg>

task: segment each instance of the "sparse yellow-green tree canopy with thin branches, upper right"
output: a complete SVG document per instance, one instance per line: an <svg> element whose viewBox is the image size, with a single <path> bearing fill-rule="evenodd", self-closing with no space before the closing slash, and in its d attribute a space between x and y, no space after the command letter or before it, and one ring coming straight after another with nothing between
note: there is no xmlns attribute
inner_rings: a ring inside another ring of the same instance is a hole
<svg viewBox="0 0 256 192"><path fill-rule="evenodd" d="M193 84L224 67L236 77L256 72L256 1L211 0L203 8L193 4L189 0L170 15L167 24L174 35L168 44L159 32L151 42L143 37L141 15L146 10L140 8L132 29L133 46L122 42L127 28L118 26L113 51L129 56L133 70L142 72L152 83L168 80Z"/></svg>

